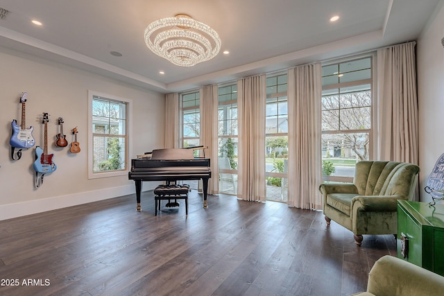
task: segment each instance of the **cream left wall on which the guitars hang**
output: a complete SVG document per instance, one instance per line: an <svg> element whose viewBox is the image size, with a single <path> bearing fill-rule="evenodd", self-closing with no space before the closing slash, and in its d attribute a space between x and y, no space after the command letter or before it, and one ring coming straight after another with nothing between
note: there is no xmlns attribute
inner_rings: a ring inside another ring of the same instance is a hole
<svg viewBox="0 0 444 296"><path fill-rule="evenodd" d="M135 192L128 174L87 179L88 90L133 102L131 157L163 147L163 94L5 48L0 48L0 65L0 220ZM10 158L10 124L12 119L22 122L19 104L22 92L28 92L26 125L34 127L36 146L43 147L42 112L50 115L48 151L54 154L58 168L45 175L38 189L33 171L35 149L23 150L18 161ZM69 153L70 145L58 148L53 144L59 132L58 117L65 121L64 133L69 143L70 130L78 127L80 153ZM144 182L145 190L153 186Z"/></svg>

